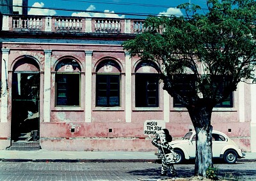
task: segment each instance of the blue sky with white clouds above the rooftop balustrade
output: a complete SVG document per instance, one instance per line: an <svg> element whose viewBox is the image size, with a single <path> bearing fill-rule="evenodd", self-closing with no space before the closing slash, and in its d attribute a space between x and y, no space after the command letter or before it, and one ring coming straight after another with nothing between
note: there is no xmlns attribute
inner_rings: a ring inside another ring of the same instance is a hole
<svg viewBox="0 0 256 181"><path fill-rule="evenodd" d="M206 8L206 0L28 0L29 15L146 18L147 15L184 15L176 8L182 3L198 4ZM61 9L61 10L58 10Z"/></svg>

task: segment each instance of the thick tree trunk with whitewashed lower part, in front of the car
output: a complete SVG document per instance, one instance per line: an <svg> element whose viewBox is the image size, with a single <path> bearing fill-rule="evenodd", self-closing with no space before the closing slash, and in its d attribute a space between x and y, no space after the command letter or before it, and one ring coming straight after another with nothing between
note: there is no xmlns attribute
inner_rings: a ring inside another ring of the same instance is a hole
<svg viewBox="0 0 256 181"><path fill-rule="evenodd" d="M188 108L189 116L196 131L195 175L206 177L207 168L212 164L212 108L200 106Z"/></svg>

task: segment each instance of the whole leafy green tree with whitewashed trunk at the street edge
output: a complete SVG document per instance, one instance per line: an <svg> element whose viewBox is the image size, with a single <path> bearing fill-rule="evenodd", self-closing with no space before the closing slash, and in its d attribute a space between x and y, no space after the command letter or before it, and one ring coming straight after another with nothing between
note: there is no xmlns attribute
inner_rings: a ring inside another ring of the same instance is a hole
<svg viewBox="0 0 256 181"><path fill-rule="evenodd" d="M208 0L208 11L181 4L183 17L148 17L143 33L123 43L131 56L154 61L173 99L188 109L196 131L195 175L206 177L212 165L211 115L214 106L253 83L256 3ZM186 83L180 89L180 82ZM186 88L186 90L184 90Z"/></svg>

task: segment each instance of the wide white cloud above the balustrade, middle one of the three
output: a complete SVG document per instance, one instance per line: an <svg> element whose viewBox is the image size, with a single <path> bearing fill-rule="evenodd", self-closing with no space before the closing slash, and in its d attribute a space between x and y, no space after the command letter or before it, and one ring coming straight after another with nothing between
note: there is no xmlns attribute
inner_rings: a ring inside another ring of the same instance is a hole
<svg viewBox="0 0 256 181"><path fill-rule="evenodd" d="M90 5L86 11L89 12L80 12L80 13L72 13L72 17L101 17L101 18L124 18L125 15L117 15L115 14L115 11L109 11L109 10L104 10L104 13L93 13L90 11L95 11L96 8L94 5Z"/></svg>

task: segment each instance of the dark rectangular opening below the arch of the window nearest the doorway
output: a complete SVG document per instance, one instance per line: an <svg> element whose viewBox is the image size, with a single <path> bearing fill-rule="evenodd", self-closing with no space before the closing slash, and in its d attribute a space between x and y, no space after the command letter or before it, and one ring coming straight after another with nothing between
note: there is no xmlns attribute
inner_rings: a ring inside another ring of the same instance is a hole
<svg viewBox="0 0 256 181"><path fill-rule="evenodd" d="M56 106L79 106L80 74L57 73Z"/></svg>

